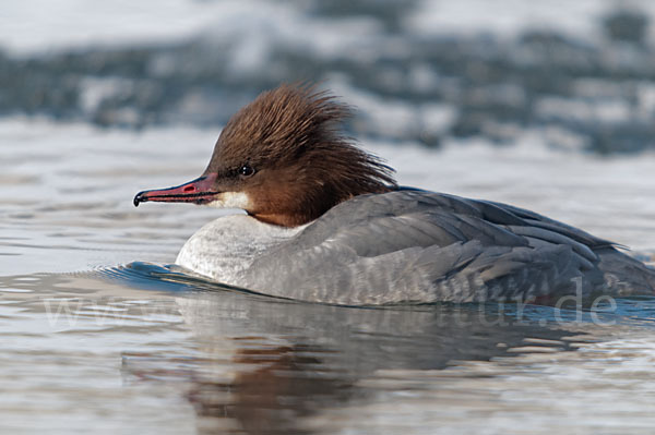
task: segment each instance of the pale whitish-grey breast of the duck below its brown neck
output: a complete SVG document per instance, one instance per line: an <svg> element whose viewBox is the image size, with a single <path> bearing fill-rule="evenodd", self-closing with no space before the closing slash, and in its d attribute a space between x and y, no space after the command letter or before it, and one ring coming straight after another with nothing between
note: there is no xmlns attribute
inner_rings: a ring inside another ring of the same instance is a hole
<svg viewBox="0 0 655 435"><path fill-rule="evenodd" d="M305 227L278 227L246 215L224 216L191 235L175 263L219 282L243 287L243 274L254 258Z"/></svg>

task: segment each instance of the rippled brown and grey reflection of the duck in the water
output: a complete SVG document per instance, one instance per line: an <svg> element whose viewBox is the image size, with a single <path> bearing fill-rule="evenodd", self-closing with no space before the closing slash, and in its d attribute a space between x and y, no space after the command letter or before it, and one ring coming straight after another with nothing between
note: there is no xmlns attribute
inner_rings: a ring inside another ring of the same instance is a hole
<svg viewBox="0 0 655 435"><path fill-rule="evenodd" d="M188 383L200 433L335 431L329 411L373 403L388 377L407 391L433 388L461 362L513 355L526 339L567 350L573 335L499 305L361 309L215 289L177 301L203 355L175 374ZM127 361L128 373L148 377L139 359Z"/></svg>

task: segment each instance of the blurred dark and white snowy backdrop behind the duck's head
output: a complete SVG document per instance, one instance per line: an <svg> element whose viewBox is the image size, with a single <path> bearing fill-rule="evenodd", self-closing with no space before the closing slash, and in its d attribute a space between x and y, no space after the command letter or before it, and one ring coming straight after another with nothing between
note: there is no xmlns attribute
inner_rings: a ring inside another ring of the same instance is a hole
<svg viewBox="0 0 655 435"><path fill-rule="evenodd" d="M259 92L321 82L360 138L655 137L655 2L22 0L0 11L0 116L219 128Z"/></svg>

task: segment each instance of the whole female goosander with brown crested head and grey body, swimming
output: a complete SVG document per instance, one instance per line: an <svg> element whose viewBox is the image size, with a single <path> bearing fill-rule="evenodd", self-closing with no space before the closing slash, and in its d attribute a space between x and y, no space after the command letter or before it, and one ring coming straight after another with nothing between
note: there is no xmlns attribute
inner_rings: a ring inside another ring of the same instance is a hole
<svg viewBox="0 0 655 435"><path fill-rule="evenodd" d="M349 108L283 85L238 111L203 174L148 201L240 208L176 263L277 297L335 304L653 294L655 270L580 229L507 204L398 188L340 133Z"/></svg>

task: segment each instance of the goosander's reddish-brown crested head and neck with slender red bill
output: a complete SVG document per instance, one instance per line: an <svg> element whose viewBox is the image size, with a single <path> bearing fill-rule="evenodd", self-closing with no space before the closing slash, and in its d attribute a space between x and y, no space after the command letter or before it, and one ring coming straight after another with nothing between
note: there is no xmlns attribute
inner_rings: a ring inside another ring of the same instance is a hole
<svg viewBox="0 0 655 435"><path fill-rule="evenodd" d="M269 223L307 223L336 204L395 188L393 170L344 136L347 106L313 87L261 94L225 125L203 174L136 194L147 201L242 208Z"/></svg>

